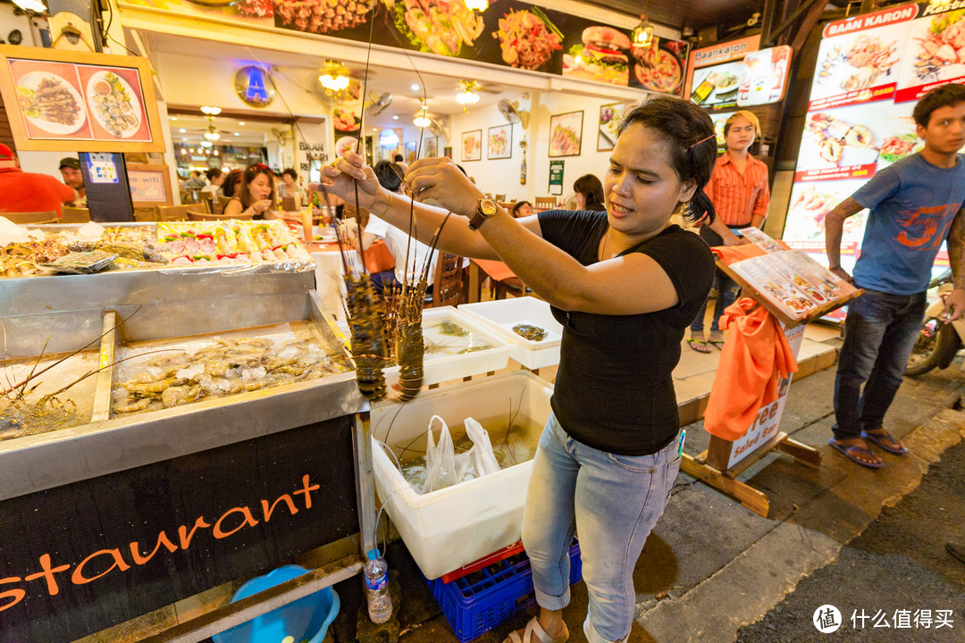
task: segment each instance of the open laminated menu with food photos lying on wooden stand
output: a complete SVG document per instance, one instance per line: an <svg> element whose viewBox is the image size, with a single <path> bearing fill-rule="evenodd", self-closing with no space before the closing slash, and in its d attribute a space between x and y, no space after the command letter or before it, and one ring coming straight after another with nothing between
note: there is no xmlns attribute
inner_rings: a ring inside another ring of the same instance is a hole
<svg viewBox="0 0 965 643"><path fill-rule="evenodd" d="M763 255L735 261L729 268L791 319L801 319L855 291L855 287L798 250L788 250L758 228L744 237Z"/></svg>

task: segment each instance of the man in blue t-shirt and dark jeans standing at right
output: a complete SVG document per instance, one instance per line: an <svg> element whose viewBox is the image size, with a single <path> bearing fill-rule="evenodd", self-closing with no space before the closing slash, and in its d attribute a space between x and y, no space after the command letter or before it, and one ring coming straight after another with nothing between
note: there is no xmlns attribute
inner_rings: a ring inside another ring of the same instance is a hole
<svg viewBox="0 0 965 643"><path fill-rule="evenodd" d="M908 452L884 429L884 417L922 326L925 290L943 241L954 277L946 323L965 312L965 154L958 153L965 146L965 85L924 94L912 116L924 149L875 174L825 220L829 267L866 290L844 322L838 422L829 443L869 469L884 462L866 440L896 455ZM841 229L864 208L870 213L852 280L841 268Z"/></svg>

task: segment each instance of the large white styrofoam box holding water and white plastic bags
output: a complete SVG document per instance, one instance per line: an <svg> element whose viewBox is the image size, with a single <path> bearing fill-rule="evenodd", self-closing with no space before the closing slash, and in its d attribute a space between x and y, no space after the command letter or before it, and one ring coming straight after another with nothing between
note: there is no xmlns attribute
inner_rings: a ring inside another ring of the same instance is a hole
<svg viewBox="0 0 965 643"><path fill-rule="evenodd" d="M552 385L524 370L420 393L414 400L372 404L372 469L375 489L423 574L438 578L519 540L533 461L420 495L402 477L390 447L425 448L429 419L449 426L465 418L511 413L540 428L551 413ZM438 431L439 425L433 429ZM534 429L536 431L536 429ZM534 441L538 436L533 437ZM410 445L410 442L421 440ZM496 442L496 439L493 439Z"/></svg>

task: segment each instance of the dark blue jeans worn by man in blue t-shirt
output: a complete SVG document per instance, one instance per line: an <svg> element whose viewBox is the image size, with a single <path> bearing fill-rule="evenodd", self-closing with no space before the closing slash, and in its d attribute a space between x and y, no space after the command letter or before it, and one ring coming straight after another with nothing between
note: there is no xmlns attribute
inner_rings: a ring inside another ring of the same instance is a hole
<svg viewBox="0 0 965 643"><path fill-rule="evenodd" d="M925 308L924 292L890 295L875 290L866 290L848 305L835 378L835 439L860 438L862 431L881 428L901 386Z"/></svg>

